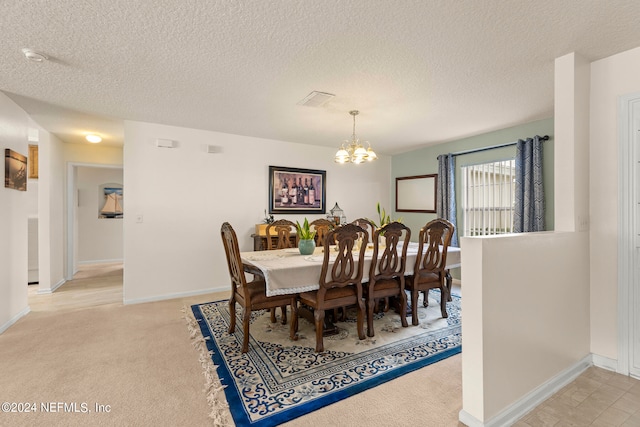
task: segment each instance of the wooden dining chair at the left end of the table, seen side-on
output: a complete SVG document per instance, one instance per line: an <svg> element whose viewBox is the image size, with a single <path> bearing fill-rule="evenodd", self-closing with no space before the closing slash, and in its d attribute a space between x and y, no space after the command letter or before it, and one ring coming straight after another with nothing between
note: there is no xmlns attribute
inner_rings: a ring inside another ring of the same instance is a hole
<svg viewBox="0 0 640 427"><path fill-rule="evenodd" d="M250 266L243 265L240 258L240 249L238 248L238 237L231 227L231 224L225 222L220 229L224 251L227 257L227 266L229 267L229 276L231 277L231 297L229 298L229 333L232 334L236 328L236 303L243 308L242 313L242 330L244 333L242 341L242 352L249 351L249 322L251 320L251 312L265 309L275 309L276 307L284 307L283 316L286 313L287 305L295 305L295 295L280 295L268 297L266 294L266 283L262 277L260 270L254 271ZM253 274L253 280L247 282L245 272ZM284 318L286 322L286 317ZM293 324L290 325L293 327ZM295 331L290 328L290 336L294 338Z"/></svg>

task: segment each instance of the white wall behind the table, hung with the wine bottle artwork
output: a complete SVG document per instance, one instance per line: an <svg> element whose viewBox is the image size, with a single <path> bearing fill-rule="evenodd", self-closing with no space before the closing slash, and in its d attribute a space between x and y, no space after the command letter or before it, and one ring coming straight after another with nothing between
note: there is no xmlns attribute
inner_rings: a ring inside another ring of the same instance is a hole
<svg viewBox="0 0 640 427"><path fill-rule="evenodd" d="M157 148L156 138L178 141L178 147ZM208 154L206 144L222 152ZM269 165L326 170L327 209L338 202L348 220L375 218L378 201L389 206L390 158L338 165L337 144L317 147L125 122L125 302L228 289L220 226L229 221L240 249L253 249L250 235L268 208ZM276 218L295 221L304 215Z"/></svg>

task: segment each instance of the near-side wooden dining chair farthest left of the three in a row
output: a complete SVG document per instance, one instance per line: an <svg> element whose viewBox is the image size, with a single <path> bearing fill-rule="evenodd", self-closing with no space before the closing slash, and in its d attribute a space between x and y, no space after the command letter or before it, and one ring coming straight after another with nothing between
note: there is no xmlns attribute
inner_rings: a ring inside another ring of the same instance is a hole
<svg viewBox="0 0 640 427"><path fill-rule="evenodd" d="M358 338L361 340L365 338L362 272L366 246L361 245L358 251L355 251L355 246L359 238L367 239L368 237L366 230L354 224L345 224L329 231L324 243L320 288L317 291L303 292L298 296L302 304L313 308L316 324L316 352L318 353L324 351L322 332L325 310L355 305L358 310ZM329 245L334 238L337 242L336 250ZM297 331L297 306L291 310L291 323L293 330Z"/></svg>

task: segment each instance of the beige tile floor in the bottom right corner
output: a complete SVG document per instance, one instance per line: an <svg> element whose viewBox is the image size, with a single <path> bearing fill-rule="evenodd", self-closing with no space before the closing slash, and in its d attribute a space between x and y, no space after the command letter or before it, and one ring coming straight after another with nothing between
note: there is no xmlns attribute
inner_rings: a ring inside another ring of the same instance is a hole
<svg viewBox="0 0 640 427"><path fill-rule="evenodd" d="M514 427L640 427L640 380L590 367Z"/></svg>

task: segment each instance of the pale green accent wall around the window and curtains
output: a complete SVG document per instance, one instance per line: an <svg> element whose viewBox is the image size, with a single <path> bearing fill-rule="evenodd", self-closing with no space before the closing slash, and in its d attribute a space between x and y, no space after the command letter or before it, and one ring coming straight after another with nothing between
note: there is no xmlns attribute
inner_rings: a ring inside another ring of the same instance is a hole
<svg viewBox="0 0 640 427"><path fill-rule="evenodd" d="M545 191L545 227L547 230L554 229L554 206L553 206L553 119L538 120L519 126L501 129L482 135L472 136L469 138L449 141L442 144L430 145L418 150L397 154L391 158L391 198L393 206L386 207L387 211L393 211L394 219L401 217L412 231L411 240L416 241L418 230L427 222L436 218L436 214L414 213L414 212L396 212L396 178L414 175L428 175L438 173L438 156L440 154L455 153L458 151L473 150L476 148L490 147L493 145L506 144L515 142L518 139L531 138L535 135L549 135L549 140L543 144L543 174L544 174L544 191ZM456 195L462 194L460 189L460 166L474 165L478 163L486 163L491 161L505 160L515 157L515 145L497 148L493 150L482 151L480 153L471 153L456 156ZM460 202L457 204L457 222L462 224L462 212ZM458 227L458 235L461 236L460 227ZM459 271L452 271L452 276L460 278Z"/></svg>

